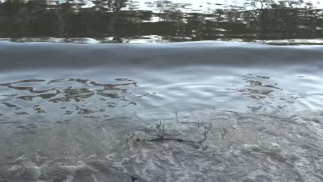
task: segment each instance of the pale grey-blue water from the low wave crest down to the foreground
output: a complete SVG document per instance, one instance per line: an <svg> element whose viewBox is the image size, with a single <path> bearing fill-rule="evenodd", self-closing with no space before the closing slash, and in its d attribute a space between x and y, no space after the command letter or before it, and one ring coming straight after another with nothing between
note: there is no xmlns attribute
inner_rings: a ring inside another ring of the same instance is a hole
<svg viewBox="0 0 323 182"><path fill-rule="evenodd" d="M0 181L323 181L322 46L0 52Z"/></svg>

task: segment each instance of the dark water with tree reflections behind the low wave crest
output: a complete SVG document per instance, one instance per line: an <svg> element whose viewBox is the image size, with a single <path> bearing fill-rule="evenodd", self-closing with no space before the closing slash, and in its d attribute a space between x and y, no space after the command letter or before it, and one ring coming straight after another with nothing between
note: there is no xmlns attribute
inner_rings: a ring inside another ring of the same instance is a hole
<svg viewBox="0 0 323 182"><path fill-rule="evenodd" d="M323 44L322 7L317 1L205 1L204 6L192 4L195 1L144 2L7 0L0 3L0 37L76 43L235 40Z"/></svg>

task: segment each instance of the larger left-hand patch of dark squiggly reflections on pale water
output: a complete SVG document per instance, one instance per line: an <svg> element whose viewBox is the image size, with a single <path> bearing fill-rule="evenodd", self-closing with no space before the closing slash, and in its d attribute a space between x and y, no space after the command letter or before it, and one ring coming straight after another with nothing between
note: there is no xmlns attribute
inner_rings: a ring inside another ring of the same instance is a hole
<svg viewBox="0 0 323 182"><path fill-rule="evenodd" d="M39 86L46 89L37 89ZM136 105L136 99L148 95L131 93L131 89L137 88L137 82L126 78L115 79L111 83L89 79L30 79L2 83L0 87L10 88L14 93L1 95L0 103L8 110L8 115L46 114L53 110L63 110L61 116L110 113L109 109Z"/></svg>

